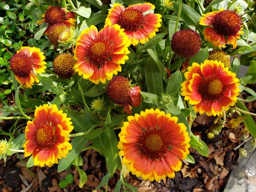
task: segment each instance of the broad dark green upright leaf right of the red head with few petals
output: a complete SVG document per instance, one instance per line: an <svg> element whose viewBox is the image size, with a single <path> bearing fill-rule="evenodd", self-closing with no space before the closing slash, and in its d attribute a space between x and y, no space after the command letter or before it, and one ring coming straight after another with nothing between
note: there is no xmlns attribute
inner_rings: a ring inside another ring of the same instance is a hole
<svg viewBox="0 0 256 192"><path fill-rule="evenodd" d="M156 62L152 58L149 58L145 67L145 79L148 92L161 97L163 92L162 75L159 68L156 68Z"/></svg>

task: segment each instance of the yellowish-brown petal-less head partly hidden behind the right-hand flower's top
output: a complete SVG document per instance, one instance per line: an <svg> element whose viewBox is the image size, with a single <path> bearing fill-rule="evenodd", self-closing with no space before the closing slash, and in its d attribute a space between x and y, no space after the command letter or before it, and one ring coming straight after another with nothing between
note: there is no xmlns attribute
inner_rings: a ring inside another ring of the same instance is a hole
<svg viewBox="0 0 256 192"><path fill-rule="evenodd" d="M230 55L228 55L225 51L217 49L210 51L208 60L221 61L225 68L228 67L228 69L230 69Z"/></svg>

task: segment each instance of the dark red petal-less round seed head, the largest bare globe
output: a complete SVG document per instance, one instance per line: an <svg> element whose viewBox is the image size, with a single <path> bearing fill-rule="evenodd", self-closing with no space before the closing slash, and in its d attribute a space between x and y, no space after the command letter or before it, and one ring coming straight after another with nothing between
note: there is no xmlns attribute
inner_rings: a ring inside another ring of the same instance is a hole
<svg viewBox="0 0 256 192"><path fill-rule="evenodd" d="M188 60L195 56L201 48L200 35L192 29L183 29L173 34L172 51Z"/></svg>

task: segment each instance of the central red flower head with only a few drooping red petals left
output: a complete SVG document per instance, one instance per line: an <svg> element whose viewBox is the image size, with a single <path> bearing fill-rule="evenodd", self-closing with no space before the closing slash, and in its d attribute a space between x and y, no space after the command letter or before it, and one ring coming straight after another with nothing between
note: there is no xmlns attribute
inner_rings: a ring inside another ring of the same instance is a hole
<svg viewBox="0 0 256 192"><path fill-rule="evenodd" d="M124 112L132 113L132 106L139 107L141 103L140 87L131 87L129 80L123 76L115 76L108 83L108 97L116 104L124 105Z"/></svg>

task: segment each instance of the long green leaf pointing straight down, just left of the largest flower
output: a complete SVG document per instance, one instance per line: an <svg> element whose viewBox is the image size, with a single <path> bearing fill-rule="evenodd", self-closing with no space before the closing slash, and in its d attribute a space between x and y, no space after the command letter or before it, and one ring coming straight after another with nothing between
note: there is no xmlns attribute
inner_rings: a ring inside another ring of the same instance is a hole
<svg viewBox="0 0 256 192"><path fill-rule="evenodd" d="M119 159L119 149L117 148L118 140L116 138L116 133L113 128L109 128L110 134L102 133L103 143L105 146L105 157L108 167L108 171L113 175L116 171L118 159Z"/></svg>

